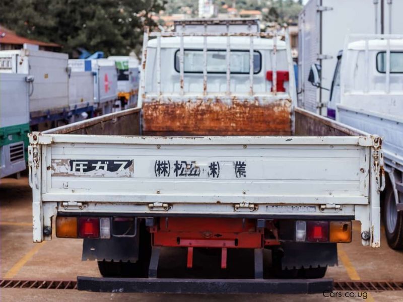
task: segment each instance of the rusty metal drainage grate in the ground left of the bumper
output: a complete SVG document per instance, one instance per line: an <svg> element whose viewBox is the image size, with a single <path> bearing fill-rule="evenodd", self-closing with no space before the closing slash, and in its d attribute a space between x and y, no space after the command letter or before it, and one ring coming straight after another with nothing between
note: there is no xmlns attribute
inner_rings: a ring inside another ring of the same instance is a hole
<svg viewBox="0 0 403 302"><path fill-rule="evenodd" d="M0 280L0 288L77 289L77 281L69 280Z"/></svg>

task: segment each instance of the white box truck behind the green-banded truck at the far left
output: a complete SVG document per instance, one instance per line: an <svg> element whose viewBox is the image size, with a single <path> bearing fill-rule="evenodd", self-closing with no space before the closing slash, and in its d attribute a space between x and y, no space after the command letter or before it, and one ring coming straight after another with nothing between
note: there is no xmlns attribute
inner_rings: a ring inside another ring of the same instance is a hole
<svg viewBox="0 0 403 302"><path fill-rule="evenodd" d="M0 72L27 75L30 81L30 125L58 125L69 114L68 55L51 51L20 49L0 51ZM40 128L40 127L39 127Z"/></svg>

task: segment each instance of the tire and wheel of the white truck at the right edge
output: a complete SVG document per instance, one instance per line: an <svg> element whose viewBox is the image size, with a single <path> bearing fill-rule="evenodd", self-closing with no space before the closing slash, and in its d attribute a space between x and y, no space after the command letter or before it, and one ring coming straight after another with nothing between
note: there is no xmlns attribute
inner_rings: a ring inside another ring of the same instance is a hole
<svg viewBox="0 0 403 302"><path fill-rule="evenodd" d="M396 210L396 201L391 187L385 192L383 221L387 244L393 250L403 250L403 212Z"/></svg>

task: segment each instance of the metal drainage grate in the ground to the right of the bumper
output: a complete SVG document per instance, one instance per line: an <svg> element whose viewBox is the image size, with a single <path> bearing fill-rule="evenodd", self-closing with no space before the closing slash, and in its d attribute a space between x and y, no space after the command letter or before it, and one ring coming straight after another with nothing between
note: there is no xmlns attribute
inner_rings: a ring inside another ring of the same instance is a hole
<svg viewBox="0 0 403 302"><path fill-rule="evenodd" d="M403 281L334 281L333 290L350 290L350 291L403 290Z"/></svg>

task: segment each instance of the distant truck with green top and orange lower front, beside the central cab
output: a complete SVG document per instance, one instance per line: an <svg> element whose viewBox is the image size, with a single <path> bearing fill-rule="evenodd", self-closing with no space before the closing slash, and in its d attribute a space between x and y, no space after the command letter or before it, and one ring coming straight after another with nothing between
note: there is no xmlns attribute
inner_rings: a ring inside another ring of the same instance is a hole
<svg viewBox="0 0 403 302"><path fill-rule="evenodd" d="M139 60L130 56L109 56L108 59L116 64L117 97L121 108L136 107L140 82Z"/></svg>

